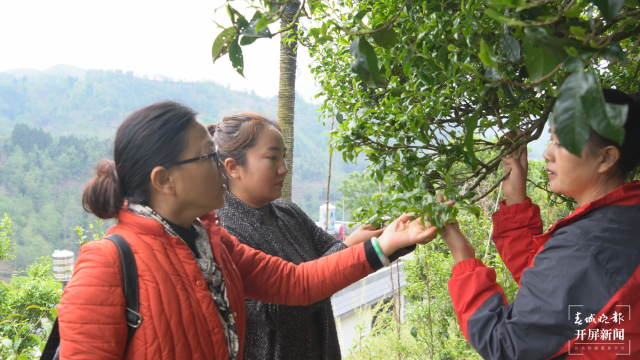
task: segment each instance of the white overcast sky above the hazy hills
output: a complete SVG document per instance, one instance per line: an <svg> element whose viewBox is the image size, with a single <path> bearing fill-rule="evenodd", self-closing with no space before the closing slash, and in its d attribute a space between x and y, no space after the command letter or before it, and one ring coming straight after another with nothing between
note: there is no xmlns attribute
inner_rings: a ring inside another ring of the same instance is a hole
<svg viewBox="0 0 640 360"><path fill-rule="evenodd" d="M245 77L228 57L211 62L211 45L220 32L212 20L229 24L221 0L21 0L0 2L0 72L44 70L67 64L85 69L120 69L136 75L176 80L213 80L236 90L278 93L279 38L243 47ZM238 7L240 7L240 2ZM301 48L296 90L315 94Z"/></svg>

